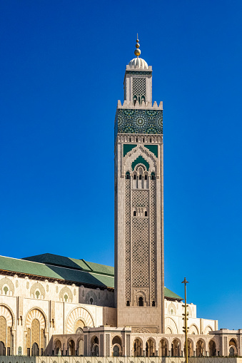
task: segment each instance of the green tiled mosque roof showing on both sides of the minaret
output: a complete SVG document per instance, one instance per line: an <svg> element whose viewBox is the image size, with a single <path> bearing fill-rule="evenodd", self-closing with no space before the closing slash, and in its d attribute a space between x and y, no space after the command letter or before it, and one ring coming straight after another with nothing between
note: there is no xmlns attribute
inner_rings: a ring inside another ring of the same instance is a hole
<svg viewBox="0 0 242 363"><path fill-rule="evenodd" d="M114 267L51 253L25 257L21 260L0 256L0 270L95 287L114 288ZM173 300L183 300L167 287L164 288L164 295Z"/></svg>

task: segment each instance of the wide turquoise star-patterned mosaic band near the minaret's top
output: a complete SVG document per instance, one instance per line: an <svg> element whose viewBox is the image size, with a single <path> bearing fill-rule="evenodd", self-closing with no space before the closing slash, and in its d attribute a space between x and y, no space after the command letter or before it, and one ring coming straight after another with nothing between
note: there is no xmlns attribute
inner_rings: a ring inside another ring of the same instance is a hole
<svg viewBox="0 0 242 363"><path fill-rule="evenodd" d="M117 133L163 133L162 110L117 109L115 134Z"/></svg>

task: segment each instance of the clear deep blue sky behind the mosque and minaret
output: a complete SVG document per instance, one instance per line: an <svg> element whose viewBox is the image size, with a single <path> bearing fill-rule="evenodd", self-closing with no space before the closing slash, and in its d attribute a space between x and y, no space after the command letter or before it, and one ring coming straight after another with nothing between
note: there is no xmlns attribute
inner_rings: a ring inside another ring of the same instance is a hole
<svg viewBox="0 0 242 363"><path fill-rule="evenodd" d="M1 1L1 255L114 265L126 64L163 101L165 285L242 328L241 1Z"/></svg>

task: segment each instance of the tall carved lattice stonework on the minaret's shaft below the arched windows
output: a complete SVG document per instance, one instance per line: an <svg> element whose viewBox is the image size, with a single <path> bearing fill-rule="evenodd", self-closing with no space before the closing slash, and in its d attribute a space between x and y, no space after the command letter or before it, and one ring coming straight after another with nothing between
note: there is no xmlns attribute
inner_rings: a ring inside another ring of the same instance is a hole
<svg viewBox="0 0 242 363"><path fill-rule="evenodd" d="M148 189L132 192L131 183L125 180L125 295L131 302L132 287L148 288L151 305L157 302L156 180L149 179ZM149 218L133 216L133 208L147 208Z"/></svg>

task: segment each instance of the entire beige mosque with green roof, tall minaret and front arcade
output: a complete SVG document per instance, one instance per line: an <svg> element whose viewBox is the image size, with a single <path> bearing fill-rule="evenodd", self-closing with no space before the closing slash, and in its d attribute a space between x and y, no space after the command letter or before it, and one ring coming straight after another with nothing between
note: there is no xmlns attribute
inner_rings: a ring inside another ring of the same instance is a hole
<svg viewBox="0 0 242 363"><path fill-rule="evenodd" d="M114 267L43 254L0 257L0 355L183 357L183 298L164 286L163 103L152 67L126 66L115 117ZM242 355L188 304L188 356Z"/></svg>

